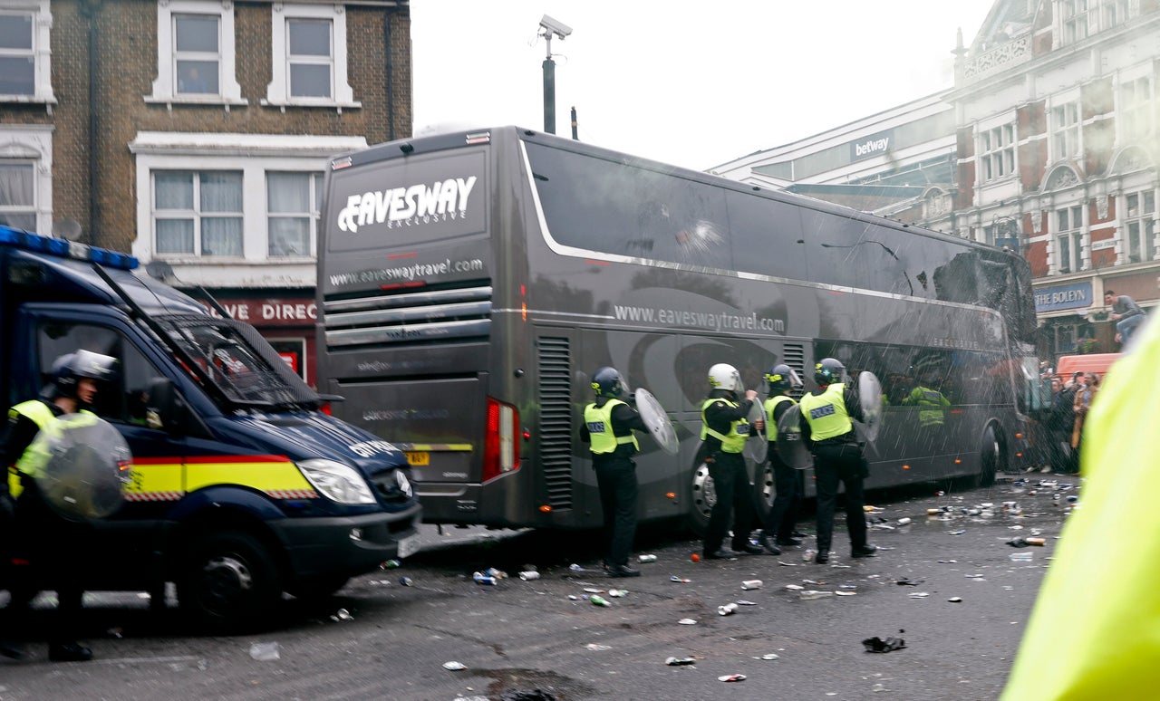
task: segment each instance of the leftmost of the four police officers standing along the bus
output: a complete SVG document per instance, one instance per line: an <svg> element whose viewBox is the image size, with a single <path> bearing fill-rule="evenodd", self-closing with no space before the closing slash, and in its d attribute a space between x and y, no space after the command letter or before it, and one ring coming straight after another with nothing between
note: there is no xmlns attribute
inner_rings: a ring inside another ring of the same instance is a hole
<svg viewBox="0 0 1160 701"><path fill-rule="evenodd" d="M621 400L624 382L612 367L592 375L596 401L583 409L580 439L590 444L592 466L604 514L604 570L609 577L638 577L629 567L629 550L637 531L637 463L640 450L632 430L647 431L637 410Z"/></svg>

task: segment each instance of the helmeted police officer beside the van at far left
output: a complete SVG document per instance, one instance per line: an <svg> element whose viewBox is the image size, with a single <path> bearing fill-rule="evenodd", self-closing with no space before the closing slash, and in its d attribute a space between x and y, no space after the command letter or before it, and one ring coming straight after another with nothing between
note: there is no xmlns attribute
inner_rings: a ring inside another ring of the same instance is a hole
<svg viewBox="0 0 1160 701"><path fill-rule="evenodd" d="M12 599L5 613L8 627L27 635L31 601L39 585L56 589L58 604L49 627L49 659L53 662L93 658L93 651L78 643L74 635L84 592L73 583L73 569L84 557L89 530L52 511L36 483L28 448L56 417L87 410L96 397L97 380L108 379L115 364L110 356L86 350L57 358L41 396L8 410L8 435L0 443L2 463L12 466L8 490L19 495L15 534L7 539L8 549L30 563L9 568ZM0 653L20 657L23 650L9 643L0 645Z"/></svg>

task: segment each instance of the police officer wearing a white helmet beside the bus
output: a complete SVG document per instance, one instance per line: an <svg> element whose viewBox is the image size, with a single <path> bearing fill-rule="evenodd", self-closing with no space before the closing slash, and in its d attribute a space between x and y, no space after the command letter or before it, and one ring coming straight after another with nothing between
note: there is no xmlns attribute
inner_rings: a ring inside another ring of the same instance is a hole
<svg viewBox="0 0 1160 701"><path fill-rule="evenodd" d="M733 516L732 546L735 553L756 555L761 548L749 542L749 532L756 524L753 508L749 470L745 466L745 440L749 437L749 409L757 399L753 389L741 386L741 374L732 365L718 363L709 368L709 385L712 389L701 406L701 448L697 463L709 466L713 479L717 503L709 516L705 530L703 557L724 560L732 553L723 549ZM744 400L738 393L744 392Z"/></svg>

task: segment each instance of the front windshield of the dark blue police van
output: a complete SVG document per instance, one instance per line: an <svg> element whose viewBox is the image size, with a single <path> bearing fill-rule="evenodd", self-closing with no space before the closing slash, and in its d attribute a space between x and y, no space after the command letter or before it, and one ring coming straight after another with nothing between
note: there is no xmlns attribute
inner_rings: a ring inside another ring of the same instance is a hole
<svg viewBox="0 0 1160 701"><path fill-rule="evenodd" d="M201 371L190 371L191 374L203 382L208 380L218 390L211 395L220 395L234 407L275 408L320 402L318 394L253 329L200 315L159 321L169 338ZM177 359L186 364L180 353Z"/></svg>

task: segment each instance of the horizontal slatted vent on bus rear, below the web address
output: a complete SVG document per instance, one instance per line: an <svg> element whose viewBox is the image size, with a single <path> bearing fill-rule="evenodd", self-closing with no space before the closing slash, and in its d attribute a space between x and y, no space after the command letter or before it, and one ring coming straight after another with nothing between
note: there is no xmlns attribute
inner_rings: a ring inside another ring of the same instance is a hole
<svg viewBox="0 0 1160 701"><path fill-rule="evenodd" d="M486 338L491 334L491 319L490 280L422 292L369 292L322 301L328 350Z"/></svg>

